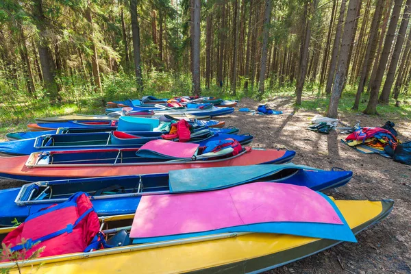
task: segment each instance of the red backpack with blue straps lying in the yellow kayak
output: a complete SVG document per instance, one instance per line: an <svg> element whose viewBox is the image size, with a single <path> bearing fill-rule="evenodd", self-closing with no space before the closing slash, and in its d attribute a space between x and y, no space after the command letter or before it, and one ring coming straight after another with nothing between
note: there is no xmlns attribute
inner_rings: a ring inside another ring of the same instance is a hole
<svg viewBox="0 0 411 274"><path fill-rule="evenodd" d="M40 257L98 249L99 218L85 192L77 192L64 203L43 208L27 217L3 240L12 251L26 249L25 258L45 247ZM23 238L26 240L22 244ZM8 260L5 260L8 261Z"/></svg>

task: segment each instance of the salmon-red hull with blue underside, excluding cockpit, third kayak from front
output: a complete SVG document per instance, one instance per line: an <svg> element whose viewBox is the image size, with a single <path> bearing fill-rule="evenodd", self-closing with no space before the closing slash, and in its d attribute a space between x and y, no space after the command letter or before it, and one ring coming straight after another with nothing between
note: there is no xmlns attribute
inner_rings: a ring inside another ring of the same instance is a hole
<svg viewBox="0 0 411 274"><path fill-rule="evenodd" d="M107 151L107 150L99 150ZM67 151L67 154L78 155L79 151ZM92 155L89 151L80 151ZM94 151L93 151L94 152ZM246 147L244 153L222 160L160 162L143 164L49 164L27 166L29 155L0 158L0 177L18 179L25 182L51 181L55 179L73 179L106 177L134 174L168 173L179 169L197 169L219 166L249 166L251 164L283 164L290 162L295 151L262 150Z"/></svg>

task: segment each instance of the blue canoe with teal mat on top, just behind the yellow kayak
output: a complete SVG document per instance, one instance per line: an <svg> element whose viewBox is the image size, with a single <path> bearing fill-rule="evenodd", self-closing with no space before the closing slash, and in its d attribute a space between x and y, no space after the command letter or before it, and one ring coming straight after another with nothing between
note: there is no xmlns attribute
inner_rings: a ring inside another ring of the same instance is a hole
<svg viewBox="0 0 411 274"><path fill-rule="evenodd" d="M221 177L224 174L224 177ZM216 180L221 177L221 180ZM73 193L87 192L99 216L132 214L144 195L217 190L251 182L276 182L325 190L347 184L351 171L323 171L295 164L227 166L188 169L151 175L127 175L70 179L25 184L21 188L0 190L0 225L22 222L29 212L66 201Z"/></svg>

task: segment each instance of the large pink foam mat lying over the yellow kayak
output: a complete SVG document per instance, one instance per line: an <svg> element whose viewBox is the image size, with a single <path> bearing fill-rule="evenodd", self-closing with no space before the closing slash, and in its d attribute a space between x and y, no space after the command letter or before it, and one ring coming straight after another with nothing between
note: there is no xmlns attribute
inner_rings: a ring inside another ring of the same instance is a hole
<svg viewBox="0 0 411 274"><path fill-rule="evenodd" d="M130 238L268 222L343 224L329 202L305 186L257 182L207 192L143 196Z"/></svg>

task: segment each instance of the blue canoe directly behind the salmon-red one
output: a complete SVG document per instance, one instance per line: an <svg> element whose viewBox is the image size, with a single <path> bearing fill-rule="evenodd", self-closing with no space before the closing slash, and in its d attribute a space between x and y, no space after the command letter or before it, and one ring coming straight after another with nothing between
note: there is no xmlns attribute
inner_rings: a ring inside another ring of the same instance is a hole
<svg viewBox="0 0 411 274"><path fill-rule="evenodd" d="M161 134L161 133L160 133ZM41 151L72 151L82 149L127 149L138 148L151 140L161 139L149 132L97 132L79 134L47 134L36 138L0 142L0 153L8 155L29 155ZM205 146L207 142L232 138L247 145L253 140L249 134L214 134L210 129L193 132L188 142ZM172 139L178 142L178 138Z"/></svg>

